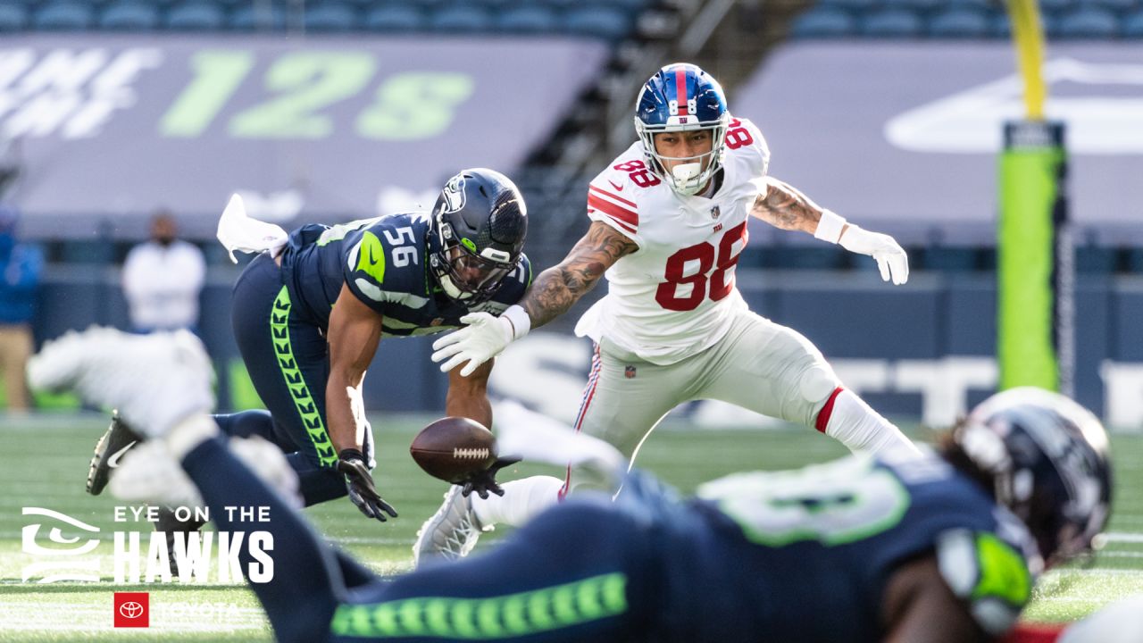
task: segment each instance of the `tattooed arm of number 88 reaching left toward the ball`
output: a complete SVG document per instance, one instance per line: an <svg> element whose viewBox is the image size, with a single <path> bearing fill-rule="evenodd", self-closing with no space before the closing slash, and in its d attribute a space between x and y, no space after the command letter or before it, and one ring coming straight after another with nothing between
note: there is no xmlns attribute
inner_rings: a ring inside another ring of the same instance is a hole
<svg viewBox="0 0 1143 643"><path fill-rule="evenodd" d="M539 273L520 305L531 327L543 326L568 311L620 257L639 246L606 223L593 223L559 264Z"/></svg>

